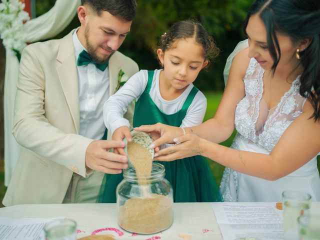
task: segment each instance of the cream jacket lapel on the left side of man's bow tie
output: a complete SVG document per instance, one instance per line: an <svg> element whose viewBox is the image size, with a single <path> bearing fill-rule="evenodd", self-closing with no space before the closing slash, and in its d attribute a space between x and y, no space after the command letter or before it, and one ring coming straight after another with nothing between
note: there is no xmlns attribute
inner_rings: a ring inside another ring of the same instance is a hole
<svg viewBox="0 0 320 240"><path fill-rule="evenodd" d="M60 80L60 84L69 107L76 133L79 133L80 128L80 113L79 113L79 90L78 77L72 42L72 30L69 34L63 37L60 41L60 46L57 53L56 71Z"/></svg>

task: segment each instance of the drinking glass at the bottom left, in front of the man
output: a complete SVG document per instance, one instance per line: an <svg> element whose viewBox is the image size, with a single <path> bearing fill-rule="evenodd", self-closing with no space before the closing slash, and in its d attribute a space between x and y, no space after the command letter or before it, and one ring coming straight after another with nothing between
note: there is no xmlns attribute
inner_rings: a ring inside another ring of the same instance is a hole
<svg viewBox="0 0 320 240"><path fill-rule="evenodd" d="M76 240L76 222L72 219L56 219L44 225L46 240Z"/></svg>

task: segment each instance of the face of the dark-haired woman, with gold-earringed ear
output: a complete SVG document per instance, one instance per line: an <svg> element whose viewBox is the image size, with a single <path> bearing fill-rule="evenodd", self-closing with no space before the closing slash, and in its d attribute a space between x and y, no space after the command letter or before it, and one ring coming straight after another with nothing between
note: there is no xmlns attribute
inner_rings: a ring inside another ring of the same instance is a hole
<svg viewBox="0 0 320 240"><path fill-rule="evenodd" d="M249 44L248 56L250 58L254 57L263 69L270 70L273 59L268 51L266 28L259 15L254 14L250 16L246 26L246 33ZM295 51L297 48L301 49L301 44L293 43L289 36L278 32L276 32L276 37L281 53L277 68L296 64L298 60L295 57Z"/></svg>

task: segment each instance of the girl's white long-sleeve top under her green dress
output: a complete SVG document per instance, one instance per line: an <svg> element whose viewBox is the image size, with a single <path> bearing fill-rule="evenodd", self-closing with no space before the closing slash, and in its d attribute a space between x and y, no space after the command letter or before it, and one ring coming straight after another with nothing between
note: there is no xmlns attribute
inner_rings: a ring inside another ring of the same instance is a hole
<svg viewBox="0 0 320 240"><path fill-rule="evenodd" d="M191 91L193 84L190 83L181 95L173 100L162 98L159 90L159 74L162 69L154 70L150 97L155 105L165 114L173 114L182 108L182 105ZM148 80L148 71L140 70L131 76L127 82L113 95L111 95L103 105L104 124L108 130L113 132L121 127L129 127L129 121L123 118L126 108L135 99L138 100L144 91ZM186 115L180 126L194 126L202 122L206 110L206 98L201 91L198 91L192 103L187 109ZM147 116L146 116L147 117ZM156 123L156 122L154 122Z"/></svg>

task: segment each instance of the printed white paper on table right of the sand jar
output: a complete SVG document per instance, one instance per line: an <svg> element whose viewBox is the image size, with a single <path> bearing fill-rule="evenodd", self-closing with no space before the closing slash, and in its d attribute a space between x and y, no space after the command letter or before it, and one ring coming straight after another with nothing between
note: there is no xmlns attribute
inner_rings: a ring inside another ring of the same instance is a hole
<svg viewBox="0 0 320 240"><path fill-rule="evenodd" d="M223 239L283 239L275 202L214 202L212 209Z"/></svg>

